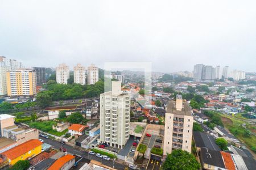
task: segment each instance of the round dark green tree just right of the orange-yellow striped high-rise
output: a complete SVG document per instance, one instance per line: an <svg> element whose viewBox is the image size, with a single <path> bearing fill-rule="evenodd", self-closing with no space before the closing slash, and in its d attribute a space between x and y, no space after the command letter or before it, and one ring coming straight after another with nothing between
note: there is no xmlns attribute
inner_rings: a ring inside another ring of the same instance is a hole
<svg viewBox="0 0 256 170"><path fill-rule="evenodd" d="M52 92L50 91L42 91L39 92L36 95L36 103L39 105L41 108L46 108L49 105L52 104Z"/></svg>

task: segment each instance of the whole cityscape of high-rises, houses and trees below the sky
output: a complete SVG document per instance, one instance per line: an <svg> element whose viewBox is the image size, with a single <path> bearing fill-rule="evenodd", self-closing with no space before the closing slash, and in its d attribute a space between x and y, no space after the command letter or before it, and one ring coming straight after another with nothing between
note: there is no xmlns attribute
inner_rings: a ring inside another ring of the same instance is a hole
<svg viewBox="0 0 256 170"><path fill-rule="evenodd" d="M255 73L0 62L1 169L255 169Z"/></svg>

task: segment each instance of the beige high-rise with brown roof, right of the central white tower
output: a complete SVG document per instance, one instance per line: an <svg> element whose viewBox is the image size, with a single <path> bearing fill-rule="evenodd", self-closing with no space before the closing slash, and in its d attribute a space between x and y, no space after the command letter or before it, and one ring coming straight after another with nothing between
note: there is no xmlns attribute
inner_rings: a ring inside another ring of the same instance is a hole
<svg viewBox="0 0 256 170"><path fill-rule="evenodd" d="M182 149L191 152L193 116L191 107L182 100L181 95L175 101L169 101L164 125L164 155L172 150Z"/></svg>

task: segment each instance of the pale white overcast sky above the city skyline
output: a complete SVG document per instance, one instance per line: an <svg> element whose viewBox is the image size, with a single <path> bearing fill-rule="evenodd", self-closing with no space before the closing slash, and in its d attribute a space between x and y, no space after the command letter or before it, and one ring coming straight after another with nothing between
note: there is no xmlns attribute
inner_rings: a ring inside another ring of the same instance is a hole
<svg viewBox="0 0 256 170"><path fill-rule="evenodd" d="M256 71L256 1L0 0L0 55L24 66L152 61Z"/></svg>

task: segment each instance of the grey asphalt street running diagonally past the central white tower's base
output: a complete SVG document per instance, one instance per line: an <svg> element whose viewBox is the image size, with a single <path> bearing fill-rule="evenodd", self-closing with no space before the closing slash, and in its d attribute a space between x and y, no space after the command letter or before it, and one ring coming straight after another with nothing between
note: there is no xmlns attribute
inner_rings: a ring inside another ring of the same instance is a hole
<svg viewBox="0 0 256 170"><path fill-rule="evenodd" d="M43 139L45 143L48 143L49 145L51 145L53 148L59 150L60 147L61 147L61 144L60 142L57 142L57 141L53 141L52 139L46 139L46 138L42 138L40 137L40 139ZM75 148L73 146L69 146L69 145L63 145L64 148L67 149L67 152L73 154L73 155L80 155L82 156L83 158L85 159L89 159L89 160L97 160L98 162L101 162L102 164L105 164L109 167L113 167L113 159L110 159L110 160L104 160L104 159L101 159L101 158L98 158L97 156L95 155L90 155L88 154L88 152L86 151L82 151L82 150L79 150L78 148ZM125 168L125 165L123 164L119 164L117 162L115 162L115 169L124 169Z"/></svg>

